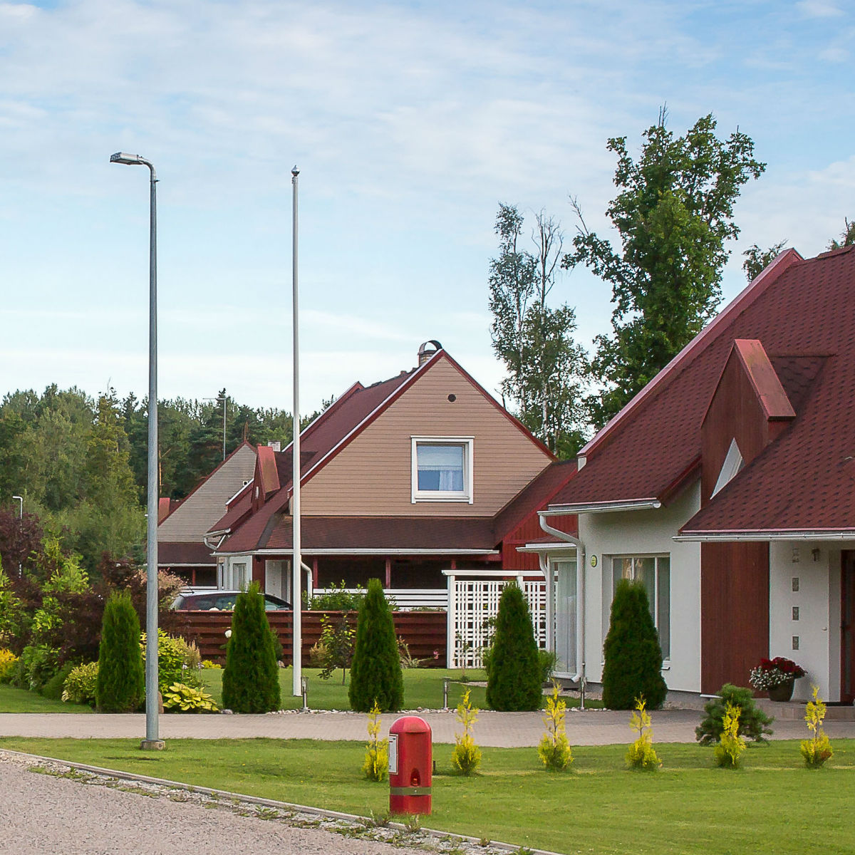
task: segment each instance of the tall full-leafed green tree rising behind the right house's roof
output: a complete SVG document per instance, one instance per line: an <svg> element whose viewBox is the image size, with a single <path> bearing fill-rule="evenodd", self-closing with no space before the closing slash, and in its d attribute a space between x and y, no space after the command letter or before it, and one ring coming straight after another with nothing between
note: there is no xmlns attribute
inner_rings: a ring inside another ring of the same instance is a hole
<svg viewBox="0 0 855 855"><path fill-rule="evenodd" d="M579 233L565 268L585 264L610 283L612 334L598 336L595 369L604 392L595 420L604 424L634 397L710 320L721 298L725 244L739 234L734 202L758 178L752 139L737 129L716 137L705 115L684 137L666 126L666 110L644 133L638 161L626 137L608 142L617 155L620 192L606 213L621 246L590 231L576 200Z"/></svg>

